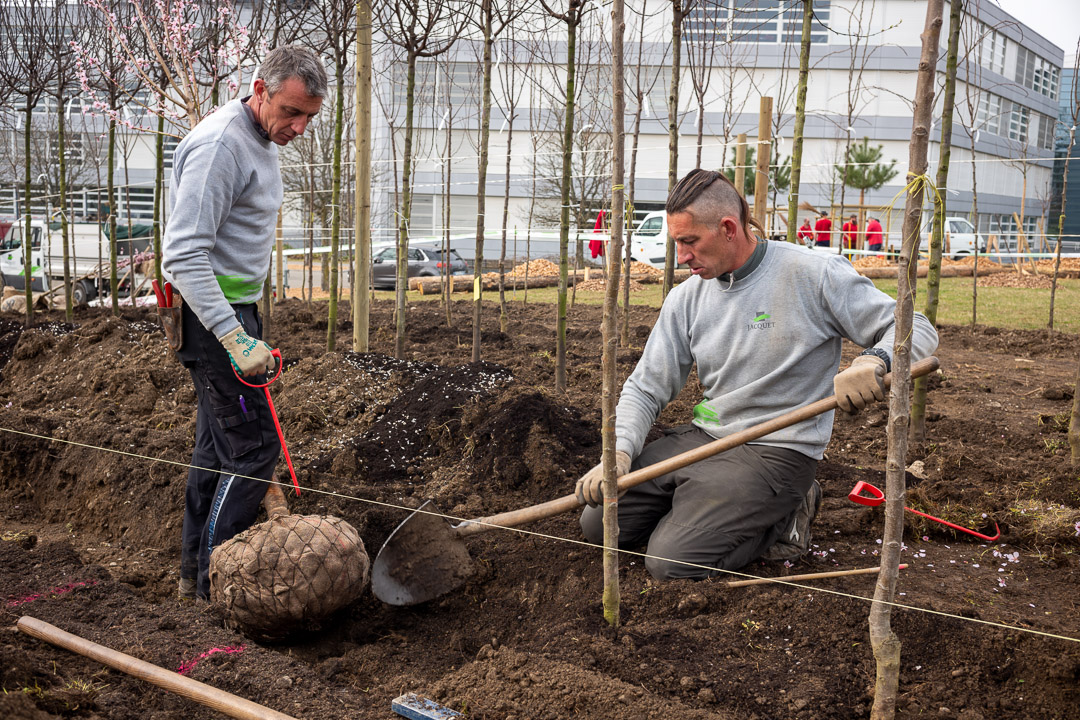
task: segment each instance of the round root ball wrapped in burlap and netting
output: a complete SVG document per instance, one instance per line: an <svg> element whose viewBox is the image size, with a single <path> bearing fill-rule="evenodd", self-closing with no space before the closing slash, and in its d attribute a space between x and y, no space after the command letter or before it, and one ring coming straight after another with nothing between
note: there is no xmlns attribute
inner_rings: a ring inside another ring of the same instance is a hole
<svg viewBox="0 0 1080 720"><path fill-rule="evenodd" d="M210 597L246 635L274 640L346 607L370 562L356 530L322 515L278 515L214 548Z"/></svg>

